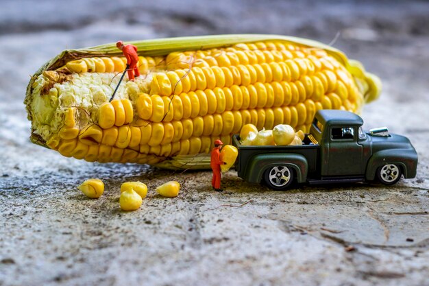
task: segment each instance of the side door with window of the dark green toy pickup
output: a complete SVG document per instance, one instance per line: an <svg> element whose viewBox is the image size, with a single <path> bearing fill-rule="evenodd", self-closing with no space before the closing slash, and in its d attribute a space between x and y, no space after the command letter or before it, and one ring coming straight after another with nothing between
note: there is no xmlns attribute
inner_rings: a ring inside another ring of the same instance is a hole
<svg viewBox="0 0 429 286"><path fill-rule="evenodd" d="M322 176L359 176L362 174L363 147L357 143L357 126L331 126L322 147Z"/></svg>

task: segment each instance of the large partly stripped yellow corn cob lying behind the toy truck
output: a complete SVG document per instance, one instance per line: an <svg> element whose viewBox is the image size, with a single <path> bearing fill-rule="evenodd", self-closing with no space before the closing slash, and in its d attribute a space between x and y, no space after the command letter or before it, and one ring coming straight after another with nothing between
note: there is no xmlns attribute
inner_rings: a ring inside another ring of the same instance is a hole
<svg viewBox="0 0 429 286"><path fill-rule="evenodd" d="M204 168L208 157L195 155L218 138L229 144L247 123L308 132L317 110L359 112L380 93L378 78L358 62L310 40L231 35L133 44L143 76L125 78L112 102L126 64L114 45L47 62L27 87L31 140L88 161Z"/></svg>

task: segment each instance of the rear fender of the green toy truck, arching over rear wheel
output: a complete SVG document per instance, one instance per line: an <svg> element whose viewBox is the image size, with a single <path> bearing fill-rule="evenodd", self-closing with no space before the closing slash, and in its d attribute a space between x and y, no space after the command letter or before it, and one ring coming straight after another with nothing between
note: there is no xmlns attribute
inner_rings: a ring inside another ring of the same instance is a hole
<svg viewBox="0 0 429 286"><path fill-rule="evenodd" d="M259 154L254 156L247 167L246 178L248 182L261 182L265 171L275 166L288 166L295 170L298 182L306 182L308 163L306 157L301 154L275 153Z"/></svg>

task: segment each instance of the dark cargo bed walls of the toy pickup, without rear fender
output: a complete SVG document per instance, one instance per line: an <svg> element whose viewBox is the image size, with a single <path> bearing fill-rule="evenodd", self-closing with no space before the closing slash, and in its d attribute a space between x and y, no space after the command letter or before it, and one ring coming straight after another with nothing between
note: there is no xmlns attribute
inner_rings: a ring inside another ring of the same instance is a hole
<svg viewBox="0 0 429 286"><path fill-rule="evenodd" d="M240 144L239 134L232 136L232 145L237 147L238 156L236 159L235 169L238 176L244 178L246 175L247 163L260 154L301 154L308 161L308 175L317 176L320 174L317 162L320 162L320 145L310 143L307 138L304 139L304 144L299 146L243 146ZM280 157L281 158L281 157ZM286 162L286 161L285 161Z"/></svg>

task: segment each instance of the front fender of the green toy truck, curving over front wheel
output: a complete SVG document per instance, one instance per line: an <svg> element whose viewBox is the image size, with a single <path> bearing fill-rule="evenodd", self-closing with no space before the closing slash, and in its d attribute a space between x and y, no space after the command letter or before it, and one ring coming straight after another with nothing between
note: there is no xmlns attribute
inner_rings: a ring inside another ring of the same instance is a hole
<svg viewBox="0 0 429 286"><path fill-rule="evenodd" d="M365 178L374 180L379 167L386 164L395 164L401 167L404 178L414 178L417 172L417 154L409 149L382 150L369 158Z"/></svg>

